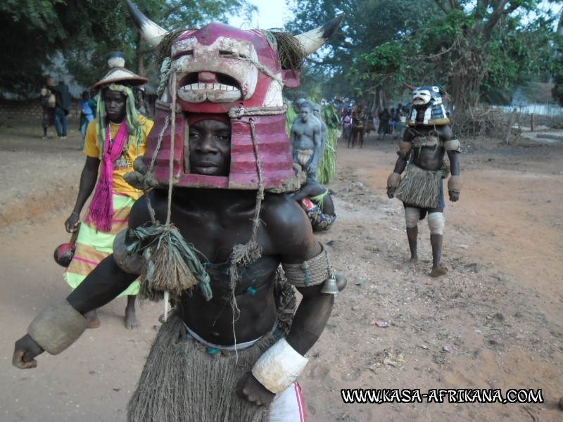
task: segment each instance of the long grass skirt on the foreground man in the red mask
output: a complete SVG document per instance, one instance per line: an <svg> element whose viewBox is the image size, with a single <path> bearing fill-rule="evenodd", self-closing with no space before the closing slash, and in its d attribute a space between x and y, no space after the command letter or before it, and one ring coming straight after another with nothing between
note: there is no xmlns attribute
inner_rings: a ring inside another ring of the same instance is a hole
<svg viewBox="0 0 563 422"><path fill-rule="evenodd" d="M265 335L235 352L208 354L186 337L173 313L160 328L148 354L137 390L127 407L129 422L266 422L268 407L240 399L234 387L277 339Z"/></svg>

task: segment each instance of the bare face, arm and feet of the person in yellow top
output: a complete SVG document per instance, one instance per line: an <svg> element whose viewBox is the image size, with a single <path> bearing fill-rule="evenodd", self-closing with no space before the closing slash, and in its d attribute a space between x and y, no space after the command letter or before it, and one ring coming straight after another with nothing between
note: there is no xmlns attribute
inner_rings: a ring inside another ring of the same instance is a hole
<svg viewBox="0 0 563 422"><path fill-rule="evenodd" d="M125 95L118 91L111 91L110 89L103 91L102 95L108 120L117 124L121 123L127 115L127 110L125 109L127 98L125 98ZM78 230L80 212L91 193L94 191L96 181L98 180L100 161L101 160L96 157L86 158L82 174L80 174L80 188L78 190L75 207L72 210L72 214L65 221L65 229L69 233L74 233ZM137 296L127 295L125 326L129 329L139 327L139 321L137 321L137 314L135 313L135 298L137 298ZM88 328L98 328L100 326L100 320L96 309L91 310L85 316L88 319Z"/></svg>

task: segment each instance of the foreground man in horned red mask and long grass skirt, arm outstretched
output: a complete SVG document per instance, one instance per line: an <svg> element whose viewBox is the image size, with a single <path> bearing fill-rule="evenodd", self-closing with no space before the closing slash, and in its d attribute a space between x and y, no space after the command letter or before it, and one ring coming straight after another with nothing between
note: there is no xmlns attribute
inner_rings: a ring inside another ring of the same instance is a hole
<svg viewBox="0 0 563 422"><path fill-rule="evenodd" d="M155 127L127 177L151 191L113 255L32 322L13 363L32 367L43 350L68 347L82 315L141 274L140 294L163 299L166 322L129 421L303 421L296 378L345 280L288 194L303 179L281 90L298 85L301 60L341 17L298 37L220 23L167 34L128 6L164 58ZM303 298L291 321L292 286Z"/></svg>

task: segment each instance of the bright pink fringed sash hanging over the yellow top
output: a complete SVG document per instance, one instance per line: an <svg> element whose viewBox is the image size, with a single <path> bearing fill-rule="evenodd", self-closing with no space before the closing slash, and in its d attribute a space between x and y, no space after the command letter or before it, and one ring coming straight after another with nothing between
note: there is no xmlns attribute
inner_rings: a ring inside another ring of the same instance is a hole
<svg viewBox="0 0 563 422"><path fill-rule="evenodd" d="M106 143L101 156L101 172L92 198L86 222L96 222L99 231L111 230L113 217L113 162L120 158L127 141L127 125L125 119L121 122L115 139L111 142L110 124L106 127ZM109 146L106 148L106 146Z"/></svg>

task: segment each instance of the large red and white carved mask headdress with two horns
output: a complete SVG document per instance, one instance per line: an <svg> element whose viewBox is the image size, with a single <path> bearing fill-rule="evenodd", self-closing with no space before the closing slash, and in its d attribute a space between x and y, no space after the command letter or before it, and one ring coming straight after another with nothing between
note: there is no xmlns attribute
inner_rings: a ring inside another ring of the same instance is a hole
<svg viewBox="0 0 563 422"><path fill-rule="evenodd" d="M158 49L162 63L155 127L144 158L146 165L153 162L153 184L163 186L172 180L173 186L298 188L281 91L298 87L303 58L334 34L343 15L295 37L221 23L172 34L149 20L130 0L125 1L144 39ZM189 172L189 148L184 146L189 113L228 114L232 130L228 177Z"/></svg>

